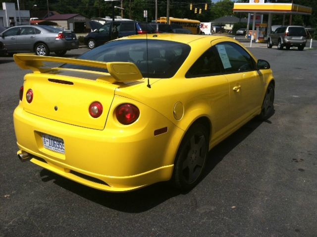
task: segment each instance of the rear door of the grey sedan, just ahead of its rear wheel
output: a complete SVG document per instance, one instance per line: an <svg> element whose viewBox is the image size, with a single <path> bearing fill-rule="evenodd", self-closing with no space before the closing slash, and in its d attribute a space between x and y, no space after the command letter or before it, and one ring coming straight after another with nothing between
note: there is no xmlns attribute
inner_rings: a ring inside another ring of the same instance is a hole
<svg viewBox="0 0 317 237"><path fill-rule="evenodd" d="M16 48L19 52L33 52L36 42L36 29L32 26L22 26L16 37Z"/></svg>

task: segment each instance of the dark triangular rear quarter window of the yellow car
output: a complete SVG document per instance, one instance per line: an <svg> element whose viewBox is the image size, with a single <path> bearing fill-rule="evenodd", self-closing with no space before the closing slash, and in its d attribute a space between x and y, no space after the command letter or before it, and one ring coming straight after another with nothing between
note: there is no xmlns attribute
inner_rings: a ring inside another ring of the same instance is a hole
<svg viewBox="0 0 317 237"><path fill-rule="evenodd" d="M203 77L221 73L218 56L214 47L208 49L199 59L197 59L186 73L187 78Z"/></svg>

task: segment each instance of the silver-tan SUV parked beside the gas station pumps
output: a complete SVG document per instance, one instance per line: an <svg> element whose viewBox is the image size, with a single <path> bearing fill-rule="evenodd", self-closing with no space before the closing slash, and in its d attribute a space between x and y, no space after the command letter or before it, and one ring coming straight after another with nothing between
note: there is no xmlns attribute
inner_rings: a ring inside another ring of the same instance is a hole
<svg viewBox="0 0 317 237"><path fill-rule="evenodd" d="M307 42L306 30L303 26L281 26L278 27L267 38L267 48L277 45L277 49L282 50L285 46L287 50L291 47L297 47L298 50L304 50Z"/></svg>

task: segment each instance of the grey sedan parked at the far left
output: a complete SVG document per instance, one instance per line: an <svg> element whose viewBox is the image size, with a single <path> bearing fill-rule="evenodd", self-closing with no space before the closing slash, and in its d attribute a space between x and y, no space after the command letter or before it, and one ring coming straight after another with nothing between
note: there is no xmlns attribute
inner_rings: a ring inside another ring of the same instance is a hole
<svg viewBox="0 0 317 237"><path fill-rule="evenodd" d="M10 27L0 34L0 42L5 44L8 53L34 52L40 56L49 56L52 51L63 56L79 46L74 32L47 25Z"/></svg>

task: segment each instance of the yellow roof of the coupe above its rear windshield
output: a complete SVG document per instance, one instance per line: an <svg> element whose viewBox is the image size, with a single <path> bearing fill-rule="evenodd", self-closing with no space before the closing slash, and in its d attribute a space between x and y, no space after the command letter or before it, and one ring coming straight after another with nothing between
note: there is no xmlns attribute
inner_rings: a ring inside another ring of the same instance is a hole
<svg viewBox="0 0 317 237"><path fill-rule="evenodd" d="M173 33L164 33L164 34L140 34L140 35L132 35L127 37L122 37L117 40L124 40L124 39L148 39L148 40L169 40L175 41L179 43L189 44L192 41L196 40L206 40L206 41L213 41L216 39L231 39L227 36L210 36L210 35L191 35L188 34L186 37L182 34L173 34Z"/></svg>

